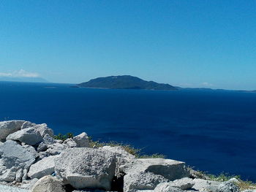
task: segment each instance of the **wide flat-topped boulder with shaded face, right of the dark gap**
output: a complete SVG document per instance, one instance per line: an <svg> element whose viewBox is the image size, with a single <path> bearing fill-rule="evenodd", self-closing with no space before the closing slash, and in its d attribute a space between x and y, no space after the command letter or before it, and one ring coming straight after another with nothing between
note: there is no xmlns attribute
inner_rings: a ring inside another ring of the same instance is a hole
<svg viewBox="0 0 256 192"><path fill-rule="evenodd" d="M164 183L168 180L177 180L189 175L184 162L164 158L135 159L129 164L120 166L119 172L124 172L125 174L124 191L154 189L159 183ZM150 186L151 180L155 180L155 185L151 186L150 188L141 188L133 184L134 180L140 180L140 176L146 174L150 175L151 179L143 180L143 186ZM165 178L165 180L162 178Z"/></svg>

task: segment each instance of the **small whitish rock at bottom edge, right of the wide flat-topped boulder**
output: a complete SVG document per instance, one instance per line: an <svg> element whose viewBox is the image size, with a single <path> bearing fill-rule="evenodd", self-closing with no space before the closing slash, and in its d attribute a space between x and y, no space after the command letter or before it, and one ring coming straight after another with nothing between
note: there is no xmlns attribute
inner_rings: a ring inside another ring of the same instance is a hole
<svg viewBox="0 0 256 192"><path fill-rule="evenodd" d="M192 189L197 191L217 191L218 186L221 184L219 181L194 179L195 185Z"/></svg>

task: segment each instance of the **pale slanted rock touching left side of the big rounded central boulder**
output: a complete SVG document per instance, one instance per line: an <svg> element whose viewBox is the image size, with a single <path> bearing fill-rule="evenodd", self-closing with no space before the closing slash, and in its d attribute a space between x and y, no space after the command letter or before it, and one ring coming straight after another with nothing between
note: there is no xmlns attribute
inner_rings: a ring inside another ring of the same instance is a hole
<svg viewBox="0 0 256 192"><path fill-rule="evenodd" d="M59 155L49 156L37 161L36 164L31 165L28 176L31 179L40 179L46 175L53 174L55 167L54 158L57 158L58 156Z"/></svg>

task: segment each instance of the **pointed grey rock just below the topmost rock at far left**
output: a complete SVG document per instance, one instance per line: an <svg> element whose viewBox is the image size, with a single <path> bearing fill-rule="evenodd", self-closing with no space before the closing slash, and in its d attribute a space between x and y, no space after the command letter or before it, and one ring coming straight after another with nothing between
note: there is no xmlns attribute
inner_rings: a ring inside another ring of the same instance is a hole
<svg viewBox="0 0 256 192"><path fill-rule="evenodd" d="M7 140L25 142L29 145L37 145L42 142L42 136L35 128L24 128L7 137Z"/></svg>

